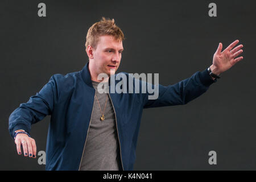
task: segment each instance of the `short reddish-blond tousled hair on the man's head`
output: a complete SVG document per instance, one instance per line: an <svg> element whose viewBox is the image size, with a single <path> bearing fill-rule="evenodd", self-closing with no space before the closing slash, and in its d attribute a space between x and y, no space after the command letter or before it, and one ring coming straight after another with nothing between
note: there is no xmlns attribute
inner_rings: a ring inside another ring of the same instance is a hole
<svg viewBox="0 0 256 182"><path fill-rule="evenodd" d="M125 40L122 30L115 24L115 20L110 20L102 17L100 22L94 23L88 30L86 35L85 47L90 45L97 48L98 38L101 35L112 35L119 41Z"/></svg>

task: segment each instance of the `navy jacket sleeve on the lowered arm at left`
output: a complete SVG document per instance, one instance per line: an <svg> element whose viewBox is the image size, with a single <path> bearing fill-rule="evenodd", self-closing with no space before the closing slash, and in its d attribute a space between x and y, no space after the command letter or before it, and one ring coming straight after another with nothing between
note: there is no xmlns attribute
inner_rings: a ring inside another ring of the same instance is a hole
<svg viewBox="0 0 256 182"><path fill-rule="evenodd" d="M31 96L28 102L20 104L9 117L9 132L14 137L14 131L22 129L30 133L31 125L41 121L46 115L51 115L57 100L57 86L55 75L46 85Z"/></svg>

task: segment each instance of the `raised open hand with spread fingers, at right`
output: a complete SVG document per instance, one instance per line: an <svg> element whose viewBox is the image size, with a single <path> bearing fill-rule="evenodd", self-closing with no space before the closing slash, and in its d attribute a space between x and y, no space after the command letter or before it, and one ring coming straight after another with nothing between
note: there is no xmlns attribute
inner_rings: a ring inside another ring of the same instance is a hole
<svg viewBox="0 0 256 182"><path fill-rule="evenodd" d="M235 47L238 42L239 40L234 41L222 52L222 43L218 44L217 51L213 55L213 64L210 66L210 69L214 74L220 75L243 59L242 56L237 57L243 52L241 49L243 47L242 44Z"/></svg>

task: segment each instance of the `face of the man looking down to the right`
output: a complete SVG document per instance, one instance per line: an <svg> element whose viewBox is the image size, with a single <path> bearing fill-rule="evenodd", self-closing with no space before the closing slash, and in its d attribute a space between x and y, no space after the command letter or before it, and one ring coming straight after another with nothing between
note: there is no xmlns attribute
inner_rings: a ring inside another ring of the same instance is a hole
<svg viewBox="0 0 256 182"><path fill-rule="evenodd" d="M102 35L98 40L97 48L92 49L93 59L90 60L90 64L93 64L97 75L106 73L110 76L110 69L117 71L122 57L122 41L110 35Z"/></svg>

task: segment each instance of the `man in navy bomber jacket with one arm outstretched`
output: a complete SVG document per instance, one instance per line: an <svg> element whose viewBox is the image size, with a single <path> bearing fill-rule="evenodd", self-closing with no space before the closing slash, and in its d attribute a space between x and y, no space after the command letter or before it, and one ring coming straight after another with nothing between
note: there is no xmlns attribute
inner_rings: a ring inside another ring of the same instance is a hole
<svg viewBox="0 0 256 182"><path fill-rule="evenodd" d="M144 108L187 104L243 59L237 57L243 47L235 47L238 40L224 51L220 43L208 69L174 85L159 85L156 100L148 99L149 93L99 92L101 81L108 83L107 91L112 87L109 80L116 75L111 71L119 67L123 40L114 19L94 23L86 36L89 63L79 72L53 75L36 96L11 113L9 131L19 155L22 146L24 156L35 158L31 125L51 115L47 170L131 170ZM108 75L107 79L98 80L101 73ZM142 86L142 81L139 84Z"/></svg>

